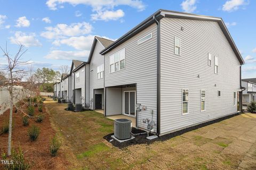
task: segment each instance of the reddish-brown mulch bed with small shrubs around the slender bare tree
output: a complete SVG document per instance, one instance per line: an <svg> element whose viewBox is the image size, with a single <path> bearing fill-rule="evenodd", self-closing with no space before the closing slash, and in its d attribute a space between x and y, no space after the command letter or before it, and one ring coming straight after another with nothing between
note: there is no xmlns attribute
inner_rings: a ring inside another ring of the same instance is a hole
<svg viewBox="0 0 256 170"><path fill-rule="evenodd" d="M0 115L0 131L2 131L2 125L4 122L9 121L9 110L3 115ZM43 114L45 107L43 106ZM35 107L35 115L42 114ZM67 169L68 162L65 161L65 155L61 151L58 152L56 157L52 157L49 151L50 139L55 135L55 131L51 127L49 114L44 114L44 120L42 123L36 123L33 118L29 118L29 125L23 126L22 114L13 113L13 129L12 129L12 147L17 150L19 146L25 152L25 159L30 164L30 169ZM36 141L31 142L27 136L29 126L35 125L40 128L40 134ZM2 150L7 152L7 139L8 134L0 134L0 152ZM2 157L0 155L0 160ZM1 168L0 164L0 169Z"/></svg>

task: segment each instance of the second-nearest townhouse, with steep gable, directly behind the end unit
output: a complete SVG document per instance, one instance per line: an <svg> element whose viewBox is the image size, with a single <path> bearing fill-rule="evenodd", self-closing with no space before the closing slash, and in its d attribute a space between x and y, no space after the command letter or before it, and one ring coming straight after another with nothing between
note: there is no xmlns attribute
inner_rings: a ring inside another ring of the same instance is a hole
<svg viewBox="0 0 256 170"><path fill-rule="evenodd" d="M104 57L100 55L101 50L107 48L114 41L94 37L91 52L87 61L90 66L90 108L104 108Z"/></svg>

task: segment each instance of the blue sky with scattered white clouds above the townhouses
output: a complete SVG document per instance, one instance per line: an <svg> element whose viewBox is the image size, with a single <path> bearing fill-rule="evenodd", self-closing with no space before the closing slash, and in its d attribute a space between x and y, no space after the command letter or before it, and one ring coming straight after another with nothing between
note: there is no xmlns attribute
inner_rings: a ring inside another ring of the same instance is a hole
<svg viewBox="0 0 256 170"><path fill-rule="evenodd" d="M0 0L0 46L17 42L34 68L87 61L95 35L117 39L159 8L221 17L246 64L242 78L256 77L256 1L252 0ZM0 67L5 64L0 57Z"/></svg>

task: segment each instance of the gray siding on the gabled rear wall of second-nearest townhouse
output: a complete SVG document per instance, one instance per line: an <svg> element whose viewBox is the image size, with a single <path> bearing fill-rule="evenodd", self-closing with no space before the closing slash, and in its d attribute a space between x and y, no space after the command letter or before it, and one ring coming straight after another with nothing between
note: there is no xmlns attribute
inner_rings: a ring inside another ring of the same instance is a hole
<svg viewBox="0 0 256 170"><path fill-rule="evenodd" d="M99 65L104 63L104 57L100 54L101 50L104 47L101 45L99 41L97 41L94 52L92 55L92 59L90 62L90 100L91 108L94 109L94 96L93 91L94 89L103 89L104 88L104 78L98 79L97 68Z"/></svg>

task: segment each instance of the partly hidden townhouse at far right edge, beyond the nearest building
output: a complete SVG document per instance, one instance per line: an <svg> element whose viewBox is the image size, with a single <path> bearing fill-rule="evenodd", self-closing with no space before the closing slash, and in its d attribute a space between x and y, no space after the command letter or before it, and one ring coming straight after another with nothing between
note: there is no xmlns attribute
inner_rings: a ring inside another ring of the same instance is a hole
<svg viewBox="0 0 256 170"><path fill-rule="evenodd" d="M256 78L242 79L243 91L243 104L248 105L251 101L256 101Z"/></svg>

